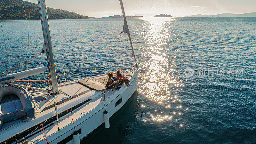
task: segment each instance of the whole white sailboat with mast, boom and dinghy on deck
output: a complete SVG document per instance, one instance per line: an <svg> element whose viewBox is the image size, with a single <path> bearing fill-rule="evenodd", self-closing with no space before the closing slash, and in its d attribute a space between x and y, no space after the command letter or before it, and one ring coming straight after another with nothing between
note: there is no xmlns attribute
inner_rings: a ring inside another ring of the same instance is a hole
<svg viewBox="0 0 256 144"><path fill-rule="evenodd" d="M123 32L128 34L135 64L124 70L130 86L120 89L106 88L108 74L90 76L70 82L58 83L52 49L51 33L45 0L38 0L44 44L42 53L47 65L0 77L0 142L1 143L80 143L101 124L111 127L113 116L138 87L138 68L131 36L124 16ZM120 68L121 69L121 68ZM15 80L47 72L50 88L15 83ZM65 75L65 73L64 73Z"/></svg>

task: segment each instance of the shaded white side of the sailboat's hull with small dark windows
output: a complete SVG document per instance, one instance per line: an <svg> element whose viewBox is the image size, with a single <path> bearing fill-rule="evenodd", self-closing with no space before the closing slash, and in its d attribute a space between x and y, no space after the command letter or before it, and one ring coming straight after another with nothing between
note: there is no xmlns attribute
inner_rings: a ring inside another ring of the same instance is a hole
<svg viewBox="0 0 256 144"><path fill-rule="evenodd" d="M132 77L132 79L130 81L132 86L122 87L120 89L121 91L120 90L116 91L116 93L114 93L112 96L110 96L108 99L105 100L105 106L106 106L106 110L108 111L109 117L113 116L127 102L127 100L130 99L132 94L137 90L137 87L138 87L137 82L138 82L138 74L136 74ZM122 91L122 89L124 89L124 90ZM110 90L110 91L112 91L112 90ZM97 127L99 127L101 124L104 123L103 112L105 111L105 108L103 106L103 108L98 109L98 107L100 107L100 104L99 104L99 106L97 106L96 108L91 110L86 115L84 115L74 121L76 131L78 131L78 130L80 131L80 134L79 134L80 140L85 138L93 130L95 130ZM88 115L89 115L89 117L88 117ZM53 139L53 140L51 140L53 137L50 136L50 137L48 137L48 141L51 144L55 144L55 143L63 142L62 140L64 140L64 139L68 139L68 136L72 135L74 132L74 126L73 126L73 124L72 125L69 124L68 127L71 129L67 130L67 129L63 128L61 130L62 132L59 132L59 133L61 133L61 135L58 134L58 132L56 132L56 135L57 136L59 135L59 136L58 137L55 136L55 139ZM110 123L110 127L111 127L111 123ZM66 142L70 143L70 144L74 143L73 137L71 140L66 141ZM46 143L46 141L42 140L42 141L38 141L38 143Z"/></svg>

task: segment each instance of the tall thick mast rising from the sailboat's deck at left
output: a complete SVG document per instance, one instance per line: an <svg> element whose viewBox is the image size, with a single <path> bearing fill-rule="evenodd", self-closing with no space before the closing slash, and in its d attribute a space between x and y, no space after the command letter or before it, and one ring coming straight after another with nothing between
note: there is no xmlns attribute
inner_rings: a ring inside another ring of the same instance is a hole
<svg viewBox="0 0 256 144"><path fill-rule="evenodd" d="M57 75L56 75L56 70L54 66L52 38L50 33L45 0L38 0L38 6L39 6L39 13L41 18L43 35L44 35L44 47L46 48L47 61L48 61L50 79L52 84L52 93L56 94L58 93L58 82L57 82ZM42 51L42 53L44 53L44 51Z"/></svg>

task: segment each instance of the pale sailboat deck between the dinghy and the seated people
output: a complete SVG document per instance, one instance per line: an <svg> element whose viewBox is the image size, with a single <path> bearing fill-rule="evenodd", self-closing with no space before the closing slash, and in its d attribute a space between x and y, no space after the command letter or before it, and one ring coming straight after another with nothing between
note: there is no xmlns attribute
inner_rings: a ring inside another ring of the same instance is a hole
<svg viewBox="0 0 256 144"><path fill-rule="evenodd" d="M124 72L122 73L124 74ZM124 76L127 76L128 79L130 79L131 75L132 75L132 72L130 71L128 72L128 75L124 75ZM84 78L79 80L93 80L105 85L108 80L108 74L92 76L90 78ZM74 113L75 113L79 109L81 110L81 108L77 108L77 107L80 107L83 105L82 107L83 112L73 114L73 118L74 117L79 118L79 115L85 115L86 113L91 111L93 108L96 108L100 104L103 98L107 99L110 95L118 91L116 89L105 90L104 96L102 95L102 98L101 98L101 91L97 91L92 88L89 88L86 85L79 83L78 82L79 80L74 80L68 83L60 84L61 92L54 96L55 102L57 105L59 121L61 121L59 122L60 129L64 128L65 126L67 126L67 124L71 123L70 119L67 119L67 116L64 116L67 114L67 109L72 108L72 111L74 109ZM121 87L126 87L126 86L122 85ZM30 135L35 132L38 132L40 130L40 125L38 126L38 124L43 123L44 127L52 127L53 129L55 129L55 127L57 126L56 124L53 124L51 126L52 123L56 122L54 118L52 119L52 122L48 122L51 117L55 117L56 115L53 96L45 92L31 92L31 93L32 93L32 96L35 98L36 104L39 106L41 112L37 114L35 119L22 117L23 122L21 120L13 120L13 121L4 123L0 129L0 142L3 142L3 140L9 139L15 136L17 133L24 132L25 130L28 131L26 135ZM55 130L57 131L57 127ZM8 132L8 136L6 135L6 132ZM50 133L48 133L47 135L49 134ZM21 136L21 137L26 137L26 136ZM37 138L34 138L34 139L37 139ZM38 140L41 140L41 139L43 139L42 135L38 136Z"/></svg>

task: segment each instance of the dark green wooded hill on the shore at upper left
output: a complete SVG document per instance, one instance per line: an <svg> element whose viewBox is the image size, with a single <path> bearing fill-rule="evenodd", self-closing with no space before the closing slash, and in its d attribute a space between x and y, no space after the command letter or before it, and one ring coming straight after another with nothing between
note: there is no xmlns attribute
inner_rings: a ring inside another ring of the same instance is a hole
<svg viewBox="0 0 256 144"><path fill-rule="evenodd" d="M40 20L38 4L22 1L27 19L30 5L30 20ZM1 20L26 20L21 0L1 0L0 18ZM47 7L49 19L88 19L92 17L83 16L75 12L59 10Z"/></svg>

